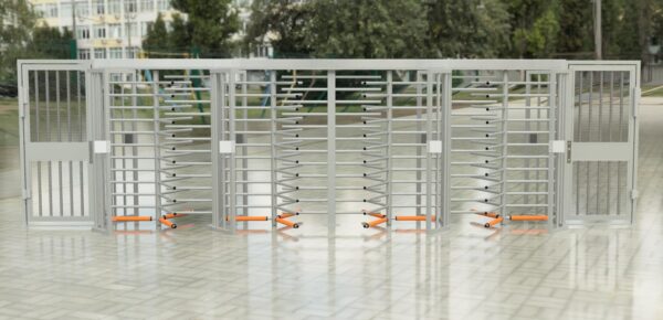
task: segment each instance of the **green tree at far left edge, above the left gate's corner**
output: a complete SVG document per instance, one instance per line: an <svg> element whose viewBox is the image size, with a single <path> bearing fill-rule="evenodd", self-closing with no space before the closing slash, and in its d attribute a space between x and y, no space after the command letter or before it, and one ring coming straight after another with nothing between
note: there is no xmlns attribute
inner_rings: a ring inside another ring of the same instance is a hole
<svg viewBox="0 0 663 320"><path fill-rule="evenodd" d="M27 0L0 1L0 82L15 82L17 60L25 55L36 18Z"/></svg>

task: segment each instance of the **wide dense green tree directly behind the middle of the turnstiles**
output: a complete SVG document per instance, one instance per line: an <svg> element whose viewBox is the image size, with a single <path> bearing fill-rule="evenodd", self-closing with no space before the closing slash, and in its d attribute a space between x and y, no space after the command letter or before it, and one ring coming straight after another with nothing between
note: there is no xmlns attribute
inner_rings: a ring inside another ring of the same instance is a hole
<svg viewBox="0 0 663 320"><path fill-rule="evenodd" d="M306 44L318 57L418 57L427 53L420 0L318 0Z"/></svg>

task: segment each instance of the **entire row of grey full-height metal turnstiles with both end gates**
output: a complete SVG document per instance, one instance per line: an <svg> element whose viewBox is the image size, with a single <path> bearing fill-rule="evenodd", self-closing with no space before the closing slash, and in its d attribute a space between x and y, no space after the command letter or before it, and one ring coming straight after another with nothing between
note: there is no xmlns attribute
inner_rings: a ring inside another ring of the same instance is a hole
<svg viewBox="0 0 663 320"><path fill-rule="evenodd" d="M639 62L19 62L29 226L631 224Z"/></svg>

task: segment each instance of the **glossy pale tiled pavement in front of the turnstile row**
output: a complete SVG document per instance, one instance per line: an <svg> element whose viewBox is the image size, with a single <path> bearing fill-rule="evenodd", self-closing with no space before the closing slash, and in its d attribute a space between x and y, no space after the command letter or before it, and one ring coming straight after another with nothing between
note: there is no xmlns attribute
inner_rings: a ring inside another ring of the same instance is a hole
<svg viewBox="0 0 663 320"><path fill-rule="evenodd" d="M438 235L350 223L335 238L314 225L231 236L191 217L108 235L25 231L9 198L0 319L663 319L663 108L643 103L631 228L466 217Z"/></svg>

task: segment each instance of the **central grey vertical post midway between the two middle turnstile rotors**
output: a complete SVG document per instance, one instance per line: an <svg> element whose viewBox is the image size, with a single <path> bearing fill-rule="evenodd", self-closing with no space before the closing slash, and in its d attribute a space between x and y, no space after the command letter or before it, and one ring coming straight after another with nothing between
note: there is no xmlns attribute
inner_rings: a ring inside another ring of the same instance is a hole
<svg viewBox="0 0 663 320"><path fill-rule="evenodd" d="M336 72L327 71L327 230L336 233Z"/></svg>

